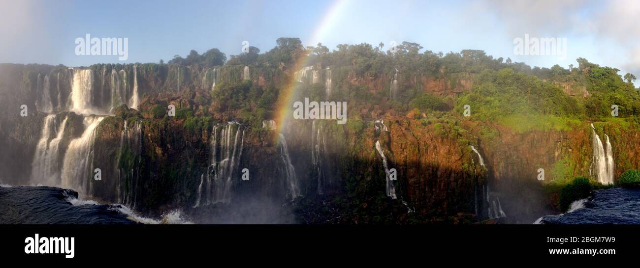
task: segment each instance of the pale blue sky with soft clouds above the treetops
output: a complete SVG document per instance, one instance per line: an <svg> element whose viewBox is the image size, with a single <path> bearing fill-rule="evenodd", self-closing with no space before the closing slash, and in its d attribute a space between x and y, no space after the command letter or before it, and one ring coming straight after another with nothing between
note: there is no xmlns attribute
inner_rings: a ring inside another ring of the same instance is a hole
<svg viewBox="0 0 640 268"><path fill-rule="evenodd" d="M0 63L86 66L168 61L189 50L239 54L242 41L265 52L279 37L305 45L413 41L434 52L481 49L532 66L577 57L640 77L640 4L589 1L8 1L0 0ZM129 59L76 56L74 40L129 38ZM317 34L316 34L317 33ZM514 38L567 38L567 59L518 56Z"/></svg>

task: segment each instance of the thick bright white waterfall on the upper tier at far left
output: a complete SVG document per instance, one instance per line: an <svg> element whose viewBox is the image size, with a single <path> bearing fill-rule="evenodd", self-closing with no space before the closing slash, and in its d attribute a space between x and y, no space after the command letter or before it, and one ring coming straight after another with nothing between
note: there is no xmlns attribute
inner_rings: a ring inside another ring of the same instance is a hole
<svg viewBox="0 0 640 268"><path fill-rule="evenodd" d="M95 114L92 105L93 73L92 70L74 70L71 88L72 112L76 114Z"/></svg>

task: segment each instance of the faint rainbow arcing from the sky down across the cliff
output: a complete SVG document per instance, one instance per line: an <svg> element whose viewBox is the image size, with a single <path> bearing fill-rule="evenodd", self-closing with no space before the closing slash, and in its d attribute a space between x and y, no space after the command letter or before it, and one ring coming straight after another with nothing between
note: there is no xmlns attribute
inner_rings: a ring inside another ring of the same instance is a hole
<svg viewBox="0 0 640 268"><path fill-rule="evenodd" d="M346 0L336 0L330 6L330 8L324 13L321 23L319 27L316 27L316 30L312 34L311 43L316 45L322 40L325 36L330 34L332 29L335 29L335 25L338 22L340 15L345 10L345 6L347 4ZM293 65L292 71L300 70L307 66L309 57L303 56L299 59L296 59L296 62ZM289 80L285 82L285 87L282 91L280 91L280 98L278 98L278 110L276 111L275 121L276 126L278 126L277 133L282 133L284 130L284 125L287 123L287 119L289 119L289 115L292 113L292 96L294 93L294 87L296 86L296 79L291 75ZM278 138L278 135L275 136Z"/></svg>

